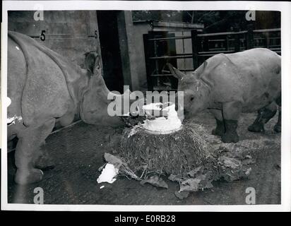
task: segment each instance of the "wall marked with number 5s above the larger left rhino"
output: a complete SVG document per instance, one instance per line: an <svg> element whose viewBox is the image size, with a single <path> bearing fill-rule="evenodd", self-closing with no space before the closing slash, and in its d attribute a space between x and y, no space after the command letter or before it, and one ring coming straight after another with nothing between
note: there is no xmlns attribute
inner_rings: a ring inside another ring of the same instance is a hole
<svg viewBox="0 0 291 226"><path fill-rule="evenodd" d="M35 37L50 49L78 65L83 64L85 52L100 49L96 11L44 11L44 20L34 20L35 11L10 11L8 30ZM90 37L92 36L92 37ZM100 51L99 51L100 52Z"/></svg>

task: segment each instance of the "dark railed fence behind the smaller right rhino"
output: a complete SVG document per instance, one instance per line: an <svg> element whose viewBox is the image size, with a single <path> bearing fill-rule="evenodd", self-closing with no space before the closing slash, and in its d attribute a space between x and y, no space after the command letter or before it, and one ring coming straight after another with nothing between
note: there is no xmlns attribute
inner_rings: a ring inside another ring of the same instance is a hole
<svg viewBox="0 0 291 226"><path fill-rule="evenodd" d="M192 59L193 67L181 71L194 71L209 57L220 53L241 52L252 48L268 48L281 54L280 28L217 32L202 34L191 30L191 35L174 36L170 32L148 32L144 35L145 67L149 90L177 90L177 79L167 71L170 62L177 66L177 59ZM175 41L191 39L192 53L177 54Z"/></svg>

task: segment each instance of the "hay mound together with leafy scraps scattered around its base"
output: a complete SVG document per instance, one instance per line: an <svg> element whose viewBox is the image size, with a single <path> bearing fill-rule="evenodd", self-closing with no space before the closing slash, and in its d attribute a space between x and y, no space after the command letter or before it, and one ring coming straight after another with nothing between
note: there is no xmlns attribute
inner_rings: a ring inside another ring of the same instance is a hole
<svg viewBox="0 0 291 226"><path fill-rule="evenodd" d="M187 122L183 129L170 134L146 133L142 126L124 129L116 155L105 153L105 160L119 169L119 174L167 188L162 179L179 182L175 194L208 189L220 178L234 181L247 177L251 168L224 148L208 140L212 135L203 126ZM182 195L183 194L183 195Z"/></svg>

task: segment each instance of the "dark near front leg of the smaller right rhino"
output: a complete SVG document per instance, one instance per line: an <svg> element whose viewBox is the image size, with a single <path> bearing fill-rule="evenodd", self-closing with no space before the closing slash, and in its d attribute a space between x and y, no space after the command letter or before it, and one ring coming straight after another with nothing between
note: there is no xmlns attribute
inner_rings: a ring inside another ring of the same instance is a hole
<svg viewBox="0 0 291 226"><path fill-rule="evenodd" d="M240 102L227 102L222 105L222 116L225 122L225 133L221 137L223 143L239 141L237 121L241 112L242 104Z"/></svg>

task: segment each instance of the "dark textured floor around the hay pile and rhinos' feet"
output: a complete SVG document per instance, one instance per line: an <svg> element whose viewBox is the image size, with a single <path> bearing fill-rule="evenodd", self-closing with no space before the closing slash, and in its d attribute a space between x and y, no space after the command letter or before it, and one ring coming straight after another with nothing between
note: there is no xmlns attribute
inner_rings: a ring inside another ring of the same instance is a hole
<svg viewBox="0 0 291 226"><path fill-rule="evenodd" d="M42 187L45 204L107 204L107 205L234 205L246 204L247 187L256 189L256 204L280 203L280 133L273 132L277 117L266 125L266 133L251 133L247 126L255 114L243 114L239 121L240 145L249 144L250 154L256 158L248 179L231 183L213 182L212 189L191 193L179 200L174 191L179 184L167 180L169 189L150 184L141 185L134 179L118 177L113 184L100 189L96 179L98 168L105 162L103 153L114 150L114 141L121 130L76 124L47 138L47 148L54 158L54 169L44 172L37 184L18 186L13 182L13 153L8 154L8 202L33 203L33 190ZM210 133L215 120L210 114L194 119ZM115 142L116 143L116 142ZM255 147L254 147L255 146Z"/></svg>

